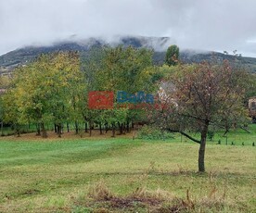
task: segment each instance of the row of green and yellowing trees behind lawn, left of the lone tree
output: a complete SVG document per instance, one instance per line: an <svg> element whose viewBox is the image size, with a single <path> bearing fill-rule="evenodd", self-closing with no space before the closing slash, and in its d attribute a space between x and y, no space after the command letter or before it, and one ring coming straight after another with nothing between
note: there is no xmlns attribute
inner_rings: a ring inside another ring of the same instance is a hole
<svg viewBox="0 0 256 213"><path fill-rule="evenodd" d="M128 129L139 119L142 110L115 107L113 110L88 108L89 91L151 92L158 79L152 66L152 52L132 47L93 49L83 61L78 53L59 52L38 57L31 64L14 71L6 94L2 95L2 119L19 134L24 124L35 123L38 134L47 136L45 123L57 127L58 136L64 123L75 124L76 132L96 123L108 124L113 136L119 126Z"/></svg>

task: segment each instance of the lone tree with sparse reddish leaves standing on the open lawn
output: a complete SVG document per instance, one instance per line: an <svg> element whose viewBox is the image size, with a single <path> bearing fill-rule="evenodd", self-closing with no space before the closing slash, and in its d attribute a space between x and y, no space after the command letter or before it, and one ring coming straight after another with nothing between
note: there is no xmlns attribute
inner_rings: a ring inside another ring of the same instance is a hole
<svg viewBox="0 0 256 213"><path fill-rule="evenodd" d="M152 117L162 128L181 132L199 144L198 171L205 171L205 148L210 126L230 128L246 115L243 71L232 68L228 61L214 65L185 65L169 76L165 107L155 110ZM228 125L226 125L228 123ZM232 124L232 125L231 125ZM199 132L195 138L189 132ZM188 133L187 133L188 132Z"/></svg>

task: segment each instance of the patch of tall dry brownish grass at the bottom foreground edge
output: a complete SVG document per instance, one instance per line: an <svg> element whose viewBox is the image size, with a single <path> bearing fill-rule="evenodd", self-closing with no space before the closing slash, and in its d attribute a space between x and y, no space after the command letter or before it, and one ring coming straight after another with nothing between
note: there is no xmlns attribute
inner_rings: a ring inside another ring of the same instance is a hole
<svg viewBox="0 0 256 213"><path fill-rule="evenodd" d="M186 198L180 198L168 191L148 190L138 187L131 194L118 196L113 194L106 182L100 181L89 187L90 200L75 201L73 212L220 212L228 207L223 194L218 194L213 187L211 192L200 199L193 198L186 190ZM80 210L78 210L80 209Z"/></svg>

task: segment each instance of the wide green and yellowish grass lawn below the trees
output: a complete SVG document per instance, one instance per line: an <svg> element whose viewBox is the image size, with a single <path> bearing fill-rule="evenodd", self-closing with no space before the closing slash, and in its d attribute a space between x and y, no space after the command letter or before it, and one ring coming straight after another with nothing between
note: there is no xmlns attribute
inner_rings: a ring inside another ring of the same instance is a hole
<svg viewBox="0 0 256 213"><path fill-rule="evenodd" d="M198 144L178 135L3 137L0 212L256 212L255 146L207 144L205 174L197 160Z"/></svg>

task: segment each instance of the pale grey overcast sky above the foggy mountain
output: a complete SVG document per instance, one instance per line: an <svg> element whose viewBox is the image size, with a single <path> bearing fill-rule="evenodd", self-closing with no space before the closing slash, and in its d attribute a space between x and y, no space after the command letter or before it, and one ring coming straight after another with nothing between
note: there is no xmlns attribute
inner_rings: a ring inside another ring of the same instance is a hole
<svg viewBox="0 0 256 213"><path fill-rule="evenodd" d="M256 57L256 0L0 0L0 55L74 34L168 36Z"/></svg>

